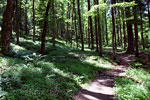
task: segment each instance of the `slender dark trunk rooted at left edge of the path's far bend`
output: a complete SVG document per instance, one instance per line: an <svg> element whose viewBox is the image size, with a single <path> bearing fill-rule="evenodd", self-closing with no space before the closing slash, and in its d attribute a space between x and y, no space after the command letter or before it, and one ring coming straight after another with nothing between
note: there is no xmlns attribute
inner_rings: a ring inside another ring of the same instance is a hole
<svg viewBox="0 0 150 100"><path fill-rule="evenodd" d="M114 4L114 0L111 0L111 4ZM116 49L115 49L115 18L114 18L114 8L111 8L111 15L112 15L112 26L113 26L113 32L112 32L112 47L113 47L113 59L116 59Z"/></svg>

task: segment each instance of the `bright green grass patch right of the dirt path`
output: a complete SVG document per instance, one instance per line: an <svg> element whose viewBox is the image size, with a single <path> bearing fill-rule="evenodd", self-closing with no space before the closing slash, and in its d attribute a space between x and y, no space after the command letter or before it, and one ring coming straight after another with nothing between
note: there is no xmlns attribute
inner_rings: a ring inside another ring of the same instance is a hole
<svg viewBox="0 0 150 100"><path fill-rule="evenodd" d="M126 71L129 78L115 79L116 98L118 100L150 100L150 70L136 67L141 66L139 62L133 62L131 65Z"/></svg>

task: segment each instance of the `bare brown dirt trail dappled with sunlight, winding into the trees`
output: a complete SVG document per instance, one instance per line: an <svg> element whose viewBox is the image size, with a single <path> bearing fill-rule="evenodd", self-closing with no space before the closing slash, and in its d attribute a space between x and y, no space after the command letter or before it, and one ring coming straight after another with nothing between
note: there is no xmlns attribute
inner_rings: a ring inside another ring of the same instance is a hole
<svg viewBox="0 0 150 100"><path fill-rule="evenodd" d="M105 72L99 72L94 81L87 88L81 89L74 95L74 100L115 100L114 78L125 76L132 58L127 54L117 53L119 65Z"/></svg>

